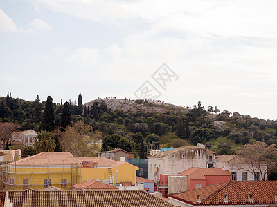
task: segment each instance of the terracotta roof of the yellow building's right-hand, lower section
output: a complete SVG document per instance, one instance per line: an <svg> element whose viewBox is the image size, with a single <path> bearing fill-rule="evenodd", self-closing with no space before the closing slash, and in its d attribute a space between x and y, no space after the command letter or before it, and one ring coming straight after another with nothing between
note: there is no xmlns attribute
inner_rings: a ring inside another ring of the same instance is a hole
<svg viewBox="0 0 277 207"><path fill-rule="evenodd" d="M99 167L115 167L125 164L122 161L115 161L106 157L74 157L75 160L80 163L81 161L95 161L98 162Z"/></svg>

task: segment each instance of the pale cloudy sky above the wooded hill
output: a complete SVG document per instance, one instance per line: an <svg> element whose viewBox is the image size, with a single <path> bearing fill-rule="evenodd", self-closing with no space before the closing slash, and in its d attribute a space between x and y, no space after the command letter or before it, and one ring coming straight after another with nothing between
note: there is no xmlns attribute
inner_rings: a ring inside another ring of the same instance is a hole
<svg viewBox="0 0 277 207"><path fill-rule="evenodd" d="M276 0L0 0L0 96L201 101L275 120L276 10Z"/></svg>

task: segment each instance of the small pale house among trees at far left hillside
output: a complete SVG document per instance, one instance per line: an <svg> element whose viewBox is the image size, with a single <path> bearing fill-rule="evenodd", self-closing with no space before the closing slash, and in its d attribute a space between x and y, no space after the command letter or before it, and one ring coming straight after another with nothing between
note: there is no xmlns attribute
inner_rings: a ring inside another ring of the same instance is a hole
<svg viewBox="0 0 277 207"><path fill-rule="evenodd" d="M37 140L37 132L34 130L25 130L23 132L13 132L12 133L12 143L18 141L25 146L33 146Z"/></svg>

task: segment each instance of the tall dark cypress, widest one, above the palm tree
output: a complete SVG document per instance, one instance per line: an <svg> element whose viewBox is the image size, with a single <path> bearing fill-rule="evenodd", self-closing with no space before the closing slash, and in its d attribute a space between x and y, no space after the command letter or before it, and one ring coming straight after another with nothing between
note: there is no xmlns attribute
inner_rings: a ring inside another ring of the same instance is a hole
<svg viewBox="0 0 277 207"><path fill-rule="evenodd" d="M39 130L53 132L55 128L55 115L52 102L52 97L48 96L47 101L45 103L42 125L40 126Z"/></svg>

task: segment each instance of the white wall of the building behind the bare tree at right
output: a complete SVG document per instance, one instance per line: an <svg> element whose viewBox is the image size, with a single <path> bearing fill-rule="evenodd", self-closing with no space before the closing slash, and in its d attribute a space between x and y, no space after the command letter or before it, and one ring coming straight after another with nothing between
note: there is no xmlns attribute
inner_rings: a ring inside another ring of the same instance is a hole
<svg viewBox="0 0 277 207"><path fill-rule="evenodd" d="M238 168L244 168L244 169L250 169L248 164L226 164L224 162L217 162L216 167L224 167L226 170L228 170L230 173L231 172L237 172L237 181L242 181L242 172L247 172L246 170L238 170ZM263 165L262 166L262 172L264 173L265 170L267 170L267 166ZM257 170L258 172L258 170ZM232 179L232 177L231 177ZM247 172L247 180L253 181L254 180L254 175L251 172ZM262 180L262 177L260 175L260 180ZM267 180L267 176L265 177L265 180Z"/></svg>

